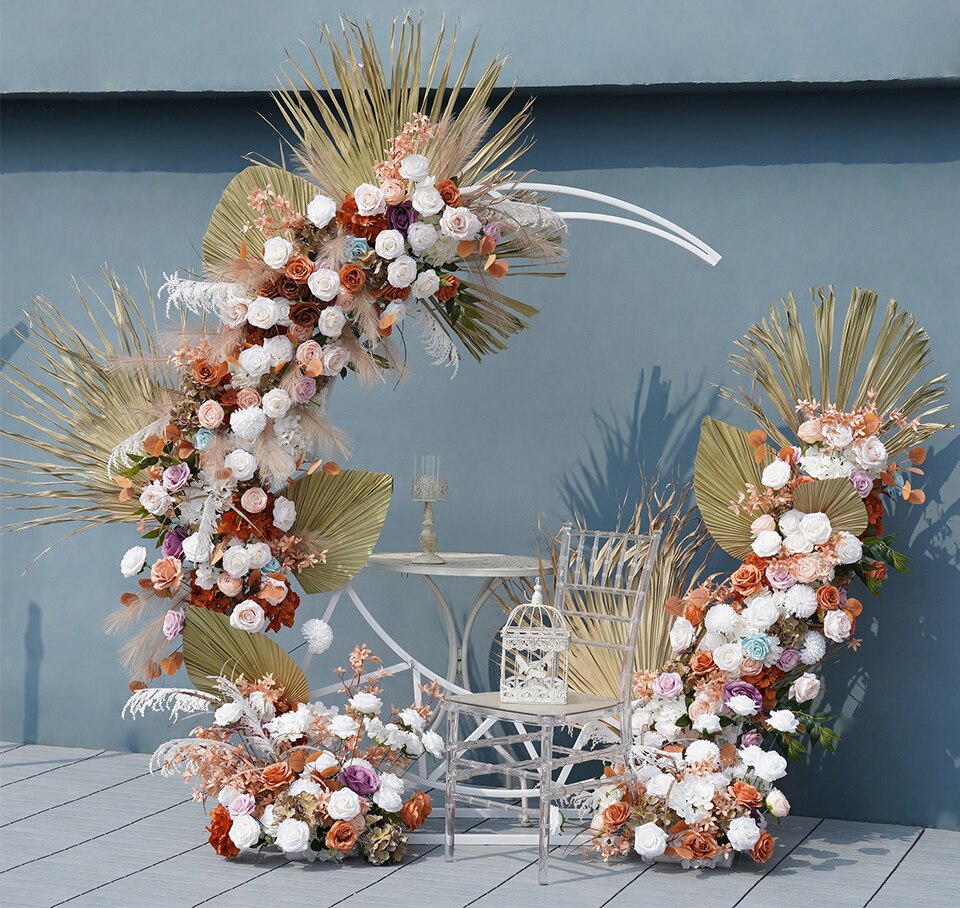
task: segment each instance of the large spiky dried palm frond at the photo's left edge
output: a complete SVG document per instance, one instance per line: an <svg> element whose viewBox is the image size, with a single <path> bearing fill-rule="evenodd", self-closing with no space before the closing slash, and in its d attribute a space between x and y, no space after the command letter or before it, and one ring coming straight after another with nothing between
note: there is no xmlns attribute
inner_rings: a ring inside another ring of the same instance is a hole
<svg viewBox="0 0 960 908"><path fill-rule="evenodd" d="M136 519L137 501L118 499L107 461L118 444L169 412L176 377L158 340L149 287L141 311L116 275L105 271L104 277L106 297L74 285L87 327L39 298L27 313L29 331L18 335L35 352L36 368L2 364L0 386L22 408L3 412L24 431L3 429L0 437L26 446L31 455L0 458L3 497L37 515L7 530L72 521L84 529Z"/></svg>

